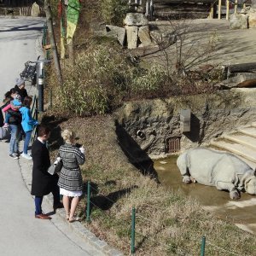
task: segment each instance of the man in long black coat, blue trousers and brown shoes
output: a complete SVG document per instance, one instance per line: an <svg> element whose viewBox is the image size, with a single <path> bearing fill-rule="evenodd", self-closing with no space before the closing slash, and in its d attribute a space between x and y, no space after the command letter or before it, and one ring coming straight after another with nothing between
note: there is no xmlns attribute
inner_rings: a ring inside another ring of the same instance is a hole
<svg viewBox="0 0 256 256"><path fill-rule="evenodd" d="M50 175L47 170L50 166L49 151L46 147L46 141L49 139L50 130L45 125L38 128L38 138L32 143L32 190L31 194L35 195L35 218L50 219L42 212L42 202L44 195L49 193L54 197L54 210L61 208L60 189L57 186L58 175Z"/></svg>

